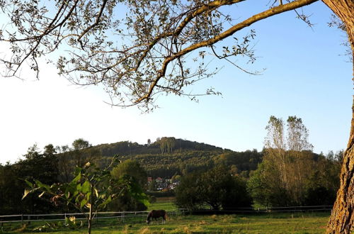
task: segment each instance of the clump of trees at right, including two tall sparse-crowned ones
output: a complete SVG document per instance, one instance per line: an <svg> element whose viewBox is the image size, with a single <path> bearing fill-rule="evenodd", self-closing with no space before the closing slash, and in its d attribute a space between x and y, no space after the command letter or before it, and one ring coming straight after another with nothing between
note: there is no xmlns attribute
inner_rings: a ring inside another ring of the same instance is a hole
<svg viewBox="0 0 354 234"><path fill-rule="evenodd" d="M249 180L253 200L263 206L331 205L339 186L343 152L312 152L301 118L286 124L270 116L263 161Z"/></svg>

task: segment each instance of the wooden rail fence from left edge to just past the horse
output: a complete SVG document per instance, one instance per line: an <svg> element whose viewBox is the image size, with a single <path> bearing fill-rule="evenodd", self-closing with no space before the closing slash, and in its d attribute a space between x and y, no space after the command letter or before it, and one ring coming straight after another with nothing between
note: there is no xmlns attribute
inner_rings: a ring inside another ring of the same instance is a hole
<svg viewBox="0 0 354 234"><path fill-rule="evenodd" d="M169 216L177 216L187 212L187 209L179 208L167 211ZM120 211L120 212L96 212L93 214L93 220L117 218L125 222L132 218L146 218L149 211ZM42 221L66 221L66 218L74 216L76 220L85 220L89 213L50 213L50 214L20 214L0 216L0 225L2 223L25 223Z"/></svg>

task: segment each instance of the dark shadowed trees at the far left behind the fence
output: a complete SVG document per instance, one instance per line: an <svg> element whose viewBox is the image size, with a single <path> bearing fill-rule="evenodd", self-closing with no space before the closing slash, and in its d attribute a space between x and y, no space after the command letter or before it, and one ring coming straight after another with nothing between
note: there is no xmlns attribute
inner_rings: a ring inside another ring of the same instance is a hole
<svg viewBox="0 0 354 234"><path fill-rule="evenodd" d="M13 165L0 164L0 215L21 213L52 213L60 208L47 199L31 194L22 200L23 191L28 185L25 180L40 179L43 183L59 182L58 159L52 145L47 145L43 153L36 146L30 147L23 160Z"/></svg>

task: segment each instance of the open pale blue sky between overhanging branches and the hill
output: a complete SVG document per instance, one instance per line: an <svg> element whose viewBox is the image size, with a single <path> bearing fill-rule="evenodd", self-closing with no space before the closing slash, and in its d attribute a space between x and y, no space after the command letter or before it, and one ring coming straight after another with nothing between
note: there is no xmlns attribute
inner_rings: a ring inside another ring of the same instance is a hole
<svg viewBox="0 0 354 234"><path fill-rule="evenodd" d="M256 6L261 5L224 10L246 17L261 10ZM0 78L0 163L15 162L34 143L70 145L76 138L97 145L174 136L237 151L261 150L271 115L302 118L314 152L345 148L353 95L352 65L341 56L345 36L327 26L331 12L321 1L304 9L312 14L313 29L294 12L251 26L258 60L244 66L265 72L251 76L214 60L212 67L224 68L193 89L215 87L222 96L204 96L199 103L160 96L153 113L112 108L99 87L74 87L47 65L40 81Z"/></svg>

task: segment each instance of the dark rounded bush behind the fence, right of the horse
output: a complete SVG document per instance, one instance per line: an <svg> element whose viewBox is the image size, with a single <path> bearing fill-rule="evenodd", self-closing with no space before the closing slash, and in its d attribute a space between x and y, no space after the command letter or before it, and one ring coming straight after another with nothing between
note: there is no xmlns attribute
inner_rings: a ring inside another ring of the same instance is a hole
<svg viewBox="0 0 354 234"><path fill-rule="evenodd" d="M180 208L214 210L250 207L251 197L246 182L233 177L226 167L188 174L176 188L176 205Z"/></svg>

